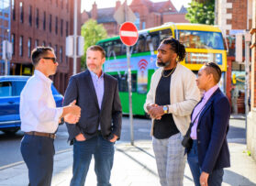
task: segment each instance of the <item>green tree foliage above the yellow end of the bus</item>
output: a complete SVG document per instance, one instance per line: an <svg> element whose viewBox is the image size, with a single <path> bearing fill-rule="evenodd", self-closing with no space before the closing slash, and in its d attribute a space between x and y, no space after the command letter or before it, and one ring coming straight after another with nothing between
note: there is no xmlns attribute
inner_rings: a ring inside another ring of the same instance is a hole
<svg viewBox="0 0 256 186"><path fill-rule="evenodd" d="M185 15L191 23L214 24L215 0L192 0Z"/></svg>

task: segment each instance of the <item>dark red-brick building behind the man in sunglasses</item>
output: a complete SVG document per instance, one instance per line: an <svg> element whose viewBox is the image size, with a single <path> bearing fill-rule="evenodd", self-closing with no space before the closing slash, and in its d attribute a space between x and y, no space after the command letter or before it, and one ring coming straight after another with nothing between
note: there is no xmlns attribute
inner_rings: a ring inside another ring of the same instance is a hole
<svg viewBox="0 0 256 186"><path fill-rule="evenodd" d="M80 13L81 1L78 0ZM81 16L78 15L78 35ZM73 34L73 0L12 0L11 41L13 57L10 74L31 75L31 50L37 46L50 46L55 50L59 67L51 77L55 86L64 93L72 75L72 59L65 55L65 38ZM77 61L80 70L80 60Z"/></svg>

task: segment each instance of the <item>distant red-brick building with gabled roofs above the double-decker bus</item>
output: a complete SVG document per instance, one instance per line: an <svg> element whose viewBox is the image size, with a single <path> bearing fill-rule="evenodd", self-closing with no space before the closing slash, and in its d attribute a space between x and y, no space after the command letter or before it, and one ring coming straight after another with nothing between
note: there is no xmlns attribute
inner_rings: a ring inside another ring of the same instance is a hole
<svg viewBox="0 0 256 186"><path fill-rule="evenodd" d="M97 20L97 23L103 24L108 36L118 35L118 24L113 16L120 5L119 0L116 1L115 7L109 8L97 8L97 5L94 4L90 12L83 11L82 24L89 18L93 18ZM135 25L139 29L161 26L166 22L189 22L185 19L186 9L184 6L177 11L171 0L158 3L153 3L150 0L132 0L129 7L137 17Z"/></svg>

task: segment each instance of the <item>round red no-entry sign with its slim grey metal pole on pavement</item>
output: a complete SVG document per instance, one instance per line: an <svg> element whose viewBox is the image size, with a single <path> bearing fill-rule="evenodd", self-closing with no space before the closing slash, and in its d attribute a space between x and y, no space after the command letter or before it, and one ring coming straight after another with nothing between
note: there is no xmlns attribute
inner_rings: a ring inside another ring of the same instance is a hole
<svg viewBox="0 0 256 186"><path fill-rule="evenodd" d="M119 30L121 41L127 46L128 59L128 101L129 101L129 122L130 122L130 143L134 145L133 138L133 115L132 115L132 92L131 92L131 70L130 70L130 53L129 46L135 45L139 38L137 27L131 22L125 22Z"/></svg>

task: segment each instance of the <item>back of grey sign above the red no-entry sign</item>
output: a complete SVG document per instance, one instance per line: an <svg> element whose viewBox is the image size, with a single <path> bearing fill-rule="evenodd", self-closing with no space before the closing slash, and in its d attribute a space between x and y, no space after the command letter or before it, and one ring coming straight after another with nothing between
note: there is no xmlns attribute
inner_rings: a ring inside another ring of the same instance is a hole
<svg viewBox="0 0 256 186"><path fill-rule="evenodd" d="M114 18L118 24L122 24L125 21L135 22L136 20L135 14L132 12L129 6L126 5L126 2L117 8L117 11L114 14Z"/></svg>

